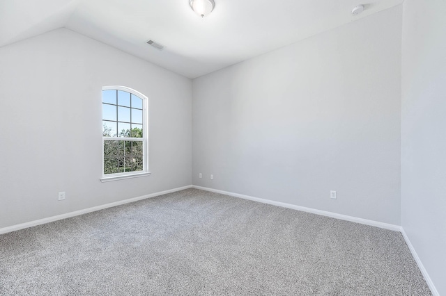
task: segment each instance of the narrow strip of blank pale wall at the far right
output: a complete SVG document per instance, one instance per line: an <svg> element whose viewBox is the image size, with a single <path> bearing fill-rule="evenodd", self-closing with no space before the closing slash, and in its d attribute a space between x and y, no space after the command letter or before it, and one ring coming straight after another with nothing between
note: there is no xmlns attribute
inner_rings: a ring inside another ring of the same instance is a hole
<svg viewBox="0 0 446 296"><path fill-rule="evenodd" d="M446 2L406 0L402 50L402 225L446 295Z"/></svg>

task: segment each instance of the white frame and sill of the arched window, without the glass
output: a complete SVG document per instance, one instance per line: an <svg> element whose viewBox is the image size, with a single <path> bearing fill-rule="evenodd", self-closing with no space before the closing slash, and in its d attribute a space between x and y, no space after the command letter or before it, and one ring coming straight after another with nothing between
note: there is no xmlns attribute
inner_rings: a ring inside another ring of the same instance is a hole
<svg viewBox="0 0 446 296"><path fill-rule="evenodd" d="M150 171L148 170L148 97L146 97L144 94L141 94L141 92L138 92L137 90L134 90L132 88L128 88L126 86L122 85L107 85L102 87L102 91L104 90L121 90L123 92L129 92L130 94L134 94L135 96L142 99L142 138L127 138L127 137L105 137L102 135L102 177L100 178L101 182L108 182L108 181L116 181L116 180L122 180L122 179L131 179L131 178L137 178L140 176L148 176L150 175ZM102 111L103 101L102 101L102 91L101 94L101 124L102 124L102 131L103 131L103 120L104 120L104 113ZM116 106L118 106L118 101L116 101ZM116 118L116 121L118 119ZM116 131L118 133L118 131ZM113 173L113 174L104 174L104 143L106 140L130 140L130 141L140 141L142 142L143 146L143 170L142 171L135 171L135 172L119 172L119 173Z"/></svg>

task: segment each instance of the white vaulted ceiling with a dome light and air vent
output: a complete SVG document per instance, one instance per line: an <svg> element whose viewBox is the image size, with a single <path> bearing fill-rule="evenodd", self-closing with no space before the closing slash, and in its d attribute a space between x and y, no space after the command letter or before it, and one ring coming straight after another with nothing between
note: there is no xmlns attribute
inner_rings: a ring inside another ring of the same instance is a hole
<svg viewBox="0 0 446 296"><path fill-rule="evenodd" d="M202 19L189 0L0 0L0 47L66 27L195 78L402 2L215 0ZM353 17L361 3L364 13Z"/></svg>

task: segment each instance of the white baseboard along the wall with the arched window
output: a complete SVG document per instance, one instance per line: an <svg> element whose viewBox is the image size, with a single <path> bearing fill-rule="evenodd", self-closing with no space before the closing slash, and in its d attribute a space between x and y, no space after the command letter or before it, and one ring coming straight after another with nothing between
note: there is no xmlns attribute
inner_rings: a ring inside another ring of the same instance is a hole
<svg viewBox="0 0 446 296"><path fill-rule="evenodd" d="M100 210L103 210L104 208L112 208L112 206L121 206L121 204L128 204L130 202L137 202L137 201L139 201L141 199L157 197L159 195L166 195L167 193L176 192L176 191L180 191L180 190L185 190L187 188L192 188L192 185L183 186L183 187L179 187L179 188L174 188L174 189L170 189L170 190L165 190L165 191L161 191L161 192L155 192L155 193L151 193L150 195L143 195L143 196L140 196L140 197L133 197L133 198L130 198L130 199L121 200L119 202L112 202L110 204L102 204L101 206L93 206L93 208L84 208L83 210L74 211L74 212L70 212L70 213L66 213L66 214L62 214L62 215L56 215L56 216L52 216L52 217L47 217L47 218L43 218L43 219L40 219L40 220L35 220L35 221L31 221L31 222L26 222L26 223L22 223L22 224L13 225L13 226L10 226L10 227L4 227L4 228L0 228L0 234L8 233L8 232L12 232L12 231L28 228L28 227L33 227L33 226L37 226L37 225L40 225L40 224L54 222L54 221L66 219L66 218L69 218L69 217L75 217L75 216L78 216L78 215L83 215L83 214L91 213L91 212L94 212L94 211L100 211Z"/></svg>

